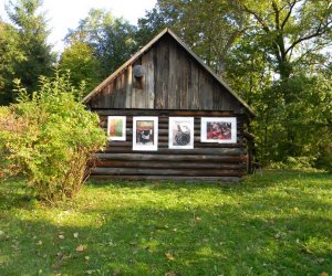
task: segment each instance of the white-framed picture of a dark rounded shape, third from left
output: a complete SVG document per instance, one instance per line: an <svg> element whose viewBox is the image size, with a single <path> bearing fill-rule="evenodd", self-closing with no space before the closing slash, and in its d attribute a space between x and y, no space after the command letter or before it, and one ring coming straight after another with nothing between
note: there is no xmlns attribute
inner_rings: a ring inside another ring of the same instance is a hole
<svg viewBox="0 0 332 276"><path fill-rule="evenodd" d="M168 148L194 149L194 117L169 117Z"/></svg>

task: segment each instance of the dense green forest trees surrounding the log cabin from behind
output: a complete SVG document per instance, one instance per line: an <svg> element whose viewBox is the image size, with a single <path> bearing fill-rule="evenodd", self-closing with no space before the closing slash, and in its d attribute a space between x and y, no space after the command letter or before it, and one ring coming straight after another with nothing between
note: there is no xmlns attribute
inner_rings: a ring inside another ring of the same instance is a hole
<svg viewBox="0 0 332 276"><path fill-rule="evenodd" d="M0 18L0 105L13 79L38 91L54 66L89 93L166 26L256 112L250 126L262 164L332 170L332 1L158 0L132 25L93 9L53 53L41 0L17 0Z"/></svg>

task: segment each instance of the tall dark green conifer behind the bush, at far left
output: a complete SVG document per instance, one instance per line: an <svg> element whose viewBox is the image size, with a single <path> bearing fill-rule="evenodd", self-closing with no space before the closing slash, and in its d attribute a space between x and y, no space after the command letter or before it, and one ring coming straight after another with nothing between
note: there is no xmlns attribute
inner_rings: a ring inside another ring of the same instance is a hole
<svg viewBox="0 0 332 276"><path fill-rule="evenodd" d="M46 41L49 31L45 15L38 12L41 4L41 0L18 0L7 7L19 36L19 51L24 56L14 62L14 77L20 78L30 93L37 89L41 75L52 73L52 63L55 61Z"/></svg>

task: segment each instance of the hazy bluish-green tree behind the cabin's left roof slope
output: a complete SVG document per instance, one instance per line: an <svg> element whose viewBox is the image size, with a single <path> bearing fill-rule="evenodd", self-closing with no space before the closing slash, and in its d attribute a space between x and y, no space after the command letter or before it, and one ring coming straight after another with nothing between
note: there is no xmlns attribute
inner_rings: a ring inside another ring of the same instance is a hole
<svg viewBox="0 0 332 276"><path fill-rule="evenodd" d="M68 40L81 41L93 50L101 64L101 77L106 77L124 63L137 49L136 28L111 12L92 9L81 20L75 30L71 30Z"/></svg>

